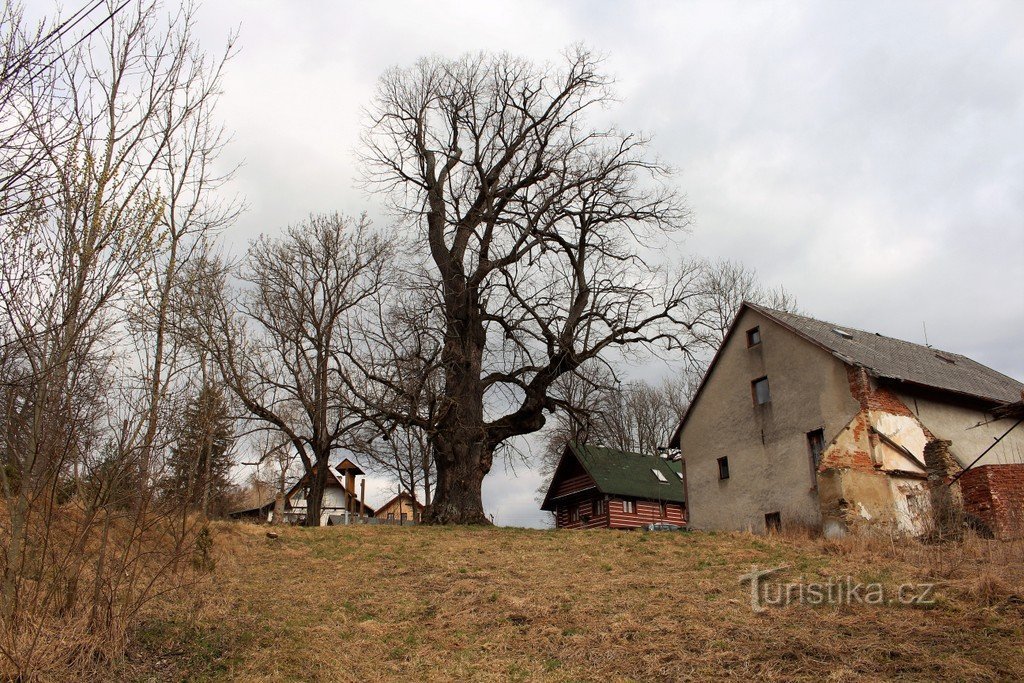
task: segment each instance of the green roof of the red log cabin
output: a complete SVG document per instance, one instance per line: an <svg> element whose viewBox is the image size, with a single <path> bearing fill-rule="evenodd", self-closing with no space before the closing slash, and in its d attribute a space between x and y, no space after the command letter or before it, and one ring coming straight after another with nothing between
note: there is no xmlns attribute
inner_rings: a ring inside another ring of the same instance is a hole
<svg viewBox="0 0 1024 683"><path fill-rule="evenodd" d="M594 478L602 494L651 501L685 502L680 461L575 442L568 444L565 455L569 453L575 456L587 473ZM666 481L658 479L651 470L660 472Z"/></svg>

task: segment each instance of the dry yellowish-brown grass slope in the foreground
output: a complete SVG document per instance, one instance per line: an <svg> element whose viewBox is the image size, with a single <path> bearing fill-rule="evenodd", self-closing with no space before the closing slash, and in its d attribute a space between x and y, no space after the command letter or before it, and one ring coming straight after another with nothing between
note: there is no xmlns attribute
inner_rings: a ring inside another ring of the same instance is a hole
<svg viewBox="0 0 1024 683"><path fill-rule="evenodd" d="M206 585L155 609L128 680L1024 678L1024 552L750 535L214 526ZM847 575L931 605L751 609L739 575Z"/></svg>

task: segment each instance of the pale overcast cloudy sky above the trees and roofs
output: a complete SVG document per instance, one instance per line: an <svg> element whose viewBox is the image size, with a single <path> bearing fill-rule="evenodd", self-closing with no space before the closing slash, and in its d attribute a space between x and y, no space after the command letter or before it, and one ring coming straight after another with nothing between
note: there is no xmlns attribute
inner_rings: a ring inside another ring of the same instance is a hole
<svg viewBox="0 0 1024 683"><path fill-rule="evenodd" d="M918 342L927 324L1024 379L1024 3L210 0L199 18L211 50L240 31L220 109L250 207L232 249L309 212L383 216L353 153L386 68L583 42L617 81L609 116L678 169L685 250L741 260L815 317ZM501 470L488 513L543 520L536 472Z"/></svg>

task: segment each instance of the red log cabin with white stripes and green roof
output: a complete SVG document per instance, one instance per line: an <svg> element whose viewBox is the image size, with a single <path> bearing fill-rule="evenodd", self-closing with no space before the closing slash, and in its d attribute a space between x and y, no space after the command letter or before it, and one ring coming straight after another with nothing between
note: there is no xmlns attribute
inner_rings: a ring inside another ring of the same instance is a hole
<svg viewBox="0 0 1024 683"><path fill-rule="evenodd" d="M558 528L685 525L682 465L660 456L569 443L541 509L555 513Z"/></svg>

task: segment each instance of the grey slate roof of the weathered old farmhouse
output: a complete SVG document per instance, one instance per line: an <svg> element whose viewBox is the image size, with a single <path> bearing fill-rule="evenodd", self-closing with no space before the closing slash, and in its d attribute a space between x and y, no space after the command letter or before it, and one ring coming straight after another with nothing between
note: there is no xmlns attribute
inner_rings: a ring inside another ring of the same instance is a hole
<svg viewBox="0 0 1024 683"><path fill-rule="evenodd" d="M1020 400L1024 389L1017 380L959 353L752 303L745 306L874 377L998 402Z"/></svg>

